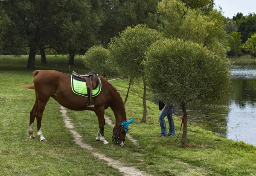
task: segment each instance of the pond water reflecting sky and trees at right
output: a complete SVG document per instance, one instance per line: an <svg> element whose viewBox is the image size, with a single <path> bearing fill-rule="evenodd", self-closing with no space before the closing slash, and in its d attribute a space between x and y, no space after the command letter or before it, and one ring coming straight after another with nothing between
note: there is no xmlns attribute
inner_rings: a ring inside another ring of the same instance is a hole
<svg viewBox="0 0 256 176"><path fill-rule="evenodd" d="M231 70L226 97L215 105L188 105L189 121L202 124L213 133L256 146L256 64L236 64ZM180 107L174 113L182 116Z"/></svg>

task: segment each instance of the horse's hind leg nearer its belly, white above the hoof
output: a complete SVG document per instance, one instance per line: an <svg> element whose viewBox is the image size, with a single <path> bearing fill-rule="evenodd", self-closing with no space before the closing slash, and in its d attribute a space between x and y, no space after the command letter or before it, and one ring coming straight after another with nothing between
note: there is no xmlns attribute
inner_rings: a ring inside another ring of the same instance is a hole
<svg viewBox="0 0 256 176"><path fill-rule="evenodd" d="M38 128L38 137L40 138L40 141L47 141L42 133L42 118L44 113L44 108L49 100L49 97L39 98L38 97L38 111L36 116L36 122L37 122L37 128Z"/></svg>

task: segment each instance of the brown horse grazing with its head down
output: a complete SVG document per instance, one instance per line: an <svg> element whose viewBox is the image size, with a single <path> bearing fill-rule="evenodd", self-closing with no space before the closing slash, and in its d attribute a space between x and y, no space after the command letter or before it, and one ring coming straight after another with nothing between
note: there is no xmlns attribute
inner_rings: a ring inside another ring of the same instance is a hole
<svg viewBox="0 0 256 176"><path fill-rule="evenodd" d="M33 126L36 117L38 137L40 141L46 141L42 134L41 120L44 108L50 97L54 98L59 104L65 108L74 111L87 110L87 97L83 97L73 93L71 88L71 77L54 70L36 70L34 71L34 85L25 85L23 88L35 89L35 104L30 111L29 135L33 139ZM110 107L116 118L116 124L113 128L112 141L118 145L124 145L125 135L128 130L126 121L125 106L120 94L116 91L107 80L101 78L102 89L99 95L92 97L95 106L90 108L94 111L99 120L99 131L96 141L101 141L103 144L109 144L104 138L104 111Z"/></svg>

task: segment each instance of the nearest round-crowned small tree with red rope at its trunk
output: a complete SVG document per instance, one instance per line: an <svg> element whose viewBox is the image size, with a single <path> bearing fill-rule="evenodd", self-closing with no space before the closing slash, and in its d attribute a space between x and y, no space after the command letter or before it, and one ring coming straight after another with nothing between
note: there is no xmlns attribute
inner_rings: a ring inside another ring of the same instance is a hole
<svg viewBox="0 0 256 176"><path fill-rule="evenodd" d="M148 85L157 98L181 106L181 142L185 145L187 103L211 103L222 97L230 85L230 62L196 43L166 39L151 45L143 65Z"/></svg>

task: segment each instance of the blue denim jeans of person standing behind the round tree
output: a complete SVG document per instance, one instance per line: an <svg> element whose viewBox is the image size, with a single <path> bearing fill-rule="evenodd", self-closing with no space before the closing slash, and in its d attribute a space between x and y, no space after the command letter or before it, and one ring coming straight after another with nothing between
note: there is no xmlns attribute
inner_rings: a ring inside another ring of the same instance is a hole
<svg viewBox="0 0 256 176"><path fill-rule="evenodd" d="M159 115L159 122L161 127L161 135L160 136L166 136L166 122L164 118L167 116L168 122L169 122L169 133L167 136L175 135L175 128L174 128L174 121L172 119L172 109L174 107L174 104L169 105L169 108L166 109L163 107L162 112Z"/></svg>

